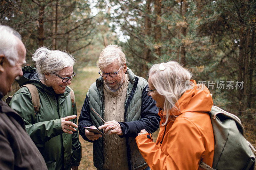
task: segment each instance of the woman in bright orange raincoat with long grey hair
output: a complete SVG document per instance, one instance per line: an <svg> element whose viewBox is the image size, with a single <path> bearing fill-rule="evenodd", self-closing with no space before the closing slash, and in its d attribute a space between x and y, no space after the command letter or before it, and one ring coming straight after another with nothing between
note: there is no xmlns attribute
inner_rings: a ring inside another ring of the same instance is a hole
<svg viewBox="0 0 256 170"><path fill-rule="evenodd" d="M214 136L208 111L212 97L204 85L177 62L155 64L149 70L148 95L161 117L156 143L146 130L136 137L140 153L151 169L202 169L212 166Z"/></svg>

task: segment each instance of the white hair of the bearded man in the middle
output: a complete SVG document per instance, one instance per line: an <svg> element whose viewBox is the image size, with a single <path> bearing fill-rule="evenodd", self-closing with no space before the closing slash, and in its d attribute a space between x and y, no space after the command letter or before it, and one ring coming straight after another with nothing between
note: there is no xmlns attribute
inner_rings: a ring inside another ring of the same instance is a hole
<svg viewBox="0 0 256 170"><path fill-rule="evenodd" d="M119 67L126 63L125 55L118 45L105 47L100 53L97 66L100 69L105 69L112 63L117 63Z"/></svg>

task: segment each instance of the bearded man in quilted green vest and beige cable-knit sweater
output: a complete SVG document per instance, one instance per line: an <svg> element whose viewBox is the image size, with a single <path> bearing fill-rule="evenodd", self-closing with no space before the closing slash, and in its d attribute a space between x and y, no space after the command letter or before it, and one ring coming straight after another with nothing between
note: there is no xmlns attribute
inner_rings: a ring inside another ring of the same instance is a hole
<svg viewBox="0 0 256 170"><path fill-rule="evenodd" d="M89 88L78 119L80 135L93 142L94 166L149 169L135 141L140 130L153 133L159 127L158 109L146 91L148 82L126 67L125 55L117 45L102 50L98 67L100 78ZM84 127L103 129L105 133L94 134Z"/></svg>

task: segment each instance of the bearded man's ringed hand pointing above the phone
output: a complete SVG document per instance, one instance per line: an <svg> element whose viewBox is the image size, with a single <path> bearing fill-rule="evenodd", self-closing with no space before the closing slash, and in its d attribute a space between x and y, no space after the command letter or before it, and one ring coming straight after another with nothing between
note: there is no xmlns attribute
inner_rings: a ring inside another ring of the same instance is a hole
<svg viewBox="0 0 256 170"><path fill-rule="evenodd" d="M121 125L116 121L108 121L104 125L99 126L99 129L103 129L105 133L108 133L109 131L109 135L114 133L117 135L123 135Z"/></svg>

